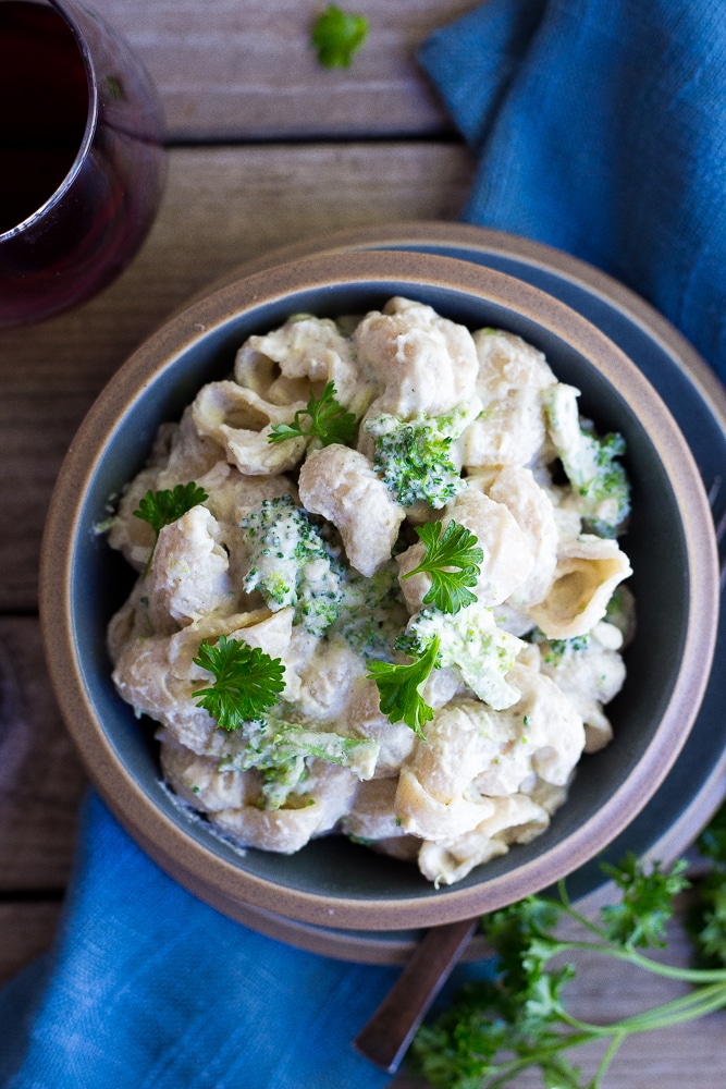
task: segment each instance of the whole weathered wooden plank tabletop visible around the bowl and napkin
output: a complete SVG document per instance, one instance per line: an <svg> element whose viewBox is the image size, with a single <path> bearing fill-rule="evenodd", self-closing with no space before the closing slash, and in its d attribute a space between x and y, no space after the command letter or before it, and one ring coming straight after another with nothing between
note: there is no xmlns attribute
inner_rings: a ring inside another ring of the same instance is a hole
<svg viewBox="0 0 726 1089"><path fill-rule="evenodd" d="M94 0L145 60L170 146L163 204L122 277L85 306L0 331L0 982L51 944L86 778L50 690L38 625L45 514L85 412L193 292L246 259L330 231L454 220L475 163L416 48L475 0L360 0L370 35L347 71L318 66L307 0ZM674 928L672 952L688 947ZM675 996L627 969L582 971L589 1020ZM726 1014L627 1045L606 1089L726 1082ZM1 1042L0 1042L1 1047ZM417 1082L399 1075L397 1089ZM516 1085L539 1085L521 1076Z"/></svg>

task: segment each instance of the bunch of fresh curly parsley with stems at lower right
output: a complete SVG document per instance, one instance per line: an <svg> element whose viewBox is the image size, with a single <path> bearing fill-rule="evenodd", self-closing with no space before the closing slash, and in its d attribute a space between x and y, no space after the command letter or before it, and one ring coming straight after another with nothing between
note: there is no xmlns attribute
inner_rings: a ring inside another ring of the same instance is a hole
<svg viewBox="0 0 726 1089"><path fill-rule="evenodd" d="M706 836L712 873L710 896L717 888L726 894L726 807ZM703 840L700 841L701 849ZM726 1007L726 915L706 908L693 929L697 943L717 953L721 967L678 968L654 960L640 950L665 945L665 923L674 911L674 897L687 889L687 864L669 869L660 864L645 868L628 855L619 866L604 866L620 891L620 901L601 909L600 923L577 911L559 882L559 900L529 896L481 920L489 944L499 957L494 979L466 984L453 1004L419 1029L411 1045L416 1073L436 1089L494 1089L528 1068L539 1069L546 1086L561 1089L602 1089L604 1077L627 1037L701 1017ZM582 928L582 940L558 937L557 925L573 920ZM567 1006L566 984L576 965L552 968L558 955L601 954L672 980L691 983L685 995L610 1025L580 1020ZM592 1077L570 1062L567 1052L586 1043L600 1043L602 1060Z"/></svg>

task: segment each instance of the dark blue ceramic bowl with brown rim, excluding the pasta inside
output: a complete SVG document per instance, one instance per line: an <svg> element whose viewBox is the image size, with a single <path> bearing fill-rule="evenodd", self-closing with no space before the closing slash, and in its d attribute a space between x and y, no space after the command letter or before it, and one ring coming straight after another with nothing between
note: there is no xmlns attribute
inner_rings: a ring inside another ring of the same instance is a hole
<svg viewBox="0 0 726 1089"><path fill-rule="evenodd" d="M232 368L245 338L299 311L361 313L415 297L471 329L499 326L542 350L582 391L582 412L628 445L637 638L610 705L614 742L583 757L567 804L528 845L433 888L410 865L323 837L293 856L235 851L190 821L160 783L149 723L116 695L106 627L132 573L95 527L143 466L158 425ZM716 550L701 479L678 427L641 372L578 314L519 280L447 257L341 253L255 272L175 315L115 375L62 467L42 546L41 619L64 719L89 774L139 844L182 884L235 918L362 931L428 927L512 903L593 858L633 820L696 719L715 640ZM284 927L283 927L284 929ZM291 940L295 940L294 933Z"/></svg>

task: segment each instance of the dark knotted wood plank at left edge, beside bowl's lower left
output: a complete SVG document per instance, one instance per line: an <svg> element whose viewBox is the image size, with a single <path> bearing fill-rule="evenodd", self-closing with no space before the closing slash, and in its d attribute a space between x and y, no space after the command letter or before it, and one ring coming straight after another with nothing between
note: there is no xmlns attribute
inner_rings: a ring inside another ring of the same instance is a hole
<svg viewBox="0 0 726 1089"><path fill-rule="evenodd" d="M63 889L85 786L37 619L0 617L0 892Z"/></svg>

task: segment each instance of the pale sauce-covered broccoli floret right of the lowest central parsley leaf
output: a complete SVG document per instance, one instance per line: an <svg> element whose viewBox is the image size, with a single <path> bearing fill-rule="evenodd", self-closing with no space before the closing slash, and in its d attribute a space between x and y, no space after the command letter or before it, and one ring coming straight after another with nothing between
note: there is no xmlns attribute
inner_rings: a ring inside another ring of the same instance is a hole
<svg viewBox="0 0 726 1089"><path fill-rule="evenodd" d="M519 692L505 674L525 646L521 639L496 626L494 613L476 601L457 613L422 609L408 623L396 649L420 656L432 641L441 640L438 665L455 669L464 684L495 711L512 707Z"/></svg>

